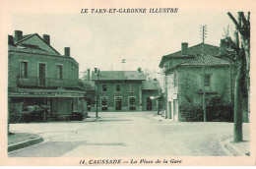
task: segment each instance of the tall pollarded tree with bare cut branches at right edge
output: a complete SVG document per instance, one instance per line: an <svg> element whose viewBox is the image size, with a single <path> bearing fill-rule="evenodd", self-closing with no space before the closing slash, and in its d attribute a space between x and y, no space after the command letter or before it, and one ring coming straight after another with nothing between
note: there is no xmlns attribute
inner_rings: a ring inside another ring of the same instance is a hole
<svg viewBox="0 0 256 169"><path fill-rule="evenodd" d="M224 43L227 48L224 49L222 55L232 61L237 66L237 74L235 77L234 88L234 126L233 126L233 141L242 141L242 112L249 107L249 92L250 92L250 13L247 19L243 12L238 12L238 22L228 12L228 17L235 25L234 32L235 40L232 40L229 35L224 38ZM239 43L239 35L241 44ZM248 100L246 104L242 100Z"/></svg>

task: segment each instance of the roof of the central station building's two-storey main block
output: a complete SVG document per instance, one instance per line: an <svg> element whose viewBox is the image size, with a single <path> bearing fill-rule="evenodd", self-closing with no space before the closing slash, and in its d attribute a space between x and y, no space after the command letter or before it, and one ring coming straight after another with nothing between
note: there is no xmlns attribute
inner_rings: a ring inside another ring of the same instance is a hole
<svg viewBox="0 0 256 169"><path fill-rule="evenodd" d="M95 72L92 72L92 80L96 81ZM99 81L110 81L110 80L140 80L144 81L145 77L143 73L138 71L100 71Z"/></svg>

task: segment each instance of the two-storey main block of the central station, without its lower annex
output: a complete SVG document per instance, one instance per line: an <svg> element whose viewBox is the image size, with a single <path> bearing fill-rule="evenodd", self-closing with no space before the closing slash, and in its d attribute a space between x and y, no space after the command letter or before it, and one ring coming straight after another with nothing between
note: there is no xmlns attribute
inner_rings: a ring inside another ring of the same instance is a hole
<svg viewBox="0 0 256 169"><path fill-rule="evenodd" d="M142 82L145 77L138 71L92 72L96 82L99 111L142 110Z"/></svg>

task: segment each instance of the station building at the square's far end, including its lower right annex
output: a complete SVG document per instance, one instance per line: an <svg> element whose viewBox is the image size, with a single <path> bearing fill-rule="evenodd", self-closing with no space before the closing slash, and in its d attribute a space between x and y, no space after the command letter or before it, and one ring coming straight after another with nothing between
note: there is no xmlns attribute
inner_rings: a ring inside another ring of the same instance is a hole
<svg viewBox="0 0 256 169"><path fill-rule="evenodd" d="M145 81L140 68L138 71L100 71L97 75L93 71L99 111L158 110L154 97L159 94L159 84L157 80Z"/></svg>

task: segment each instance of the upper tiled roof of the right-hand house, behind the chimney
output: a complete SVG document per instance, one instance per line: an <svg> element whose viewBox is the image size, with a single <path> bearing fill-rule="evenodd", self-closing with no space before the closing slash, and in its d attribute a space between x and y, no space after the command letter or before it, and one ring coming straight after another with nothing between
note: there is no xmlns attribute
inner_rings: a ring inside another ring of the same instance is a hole
<svg viewBox="0 0 256 169"><path fill-rule="evenodd" d="M179 50L177 52L174 52L174 53L171 53L171 54L168 54L168 55L162 56L161 60L160 60L160 66L159 67L162 68L163 63L164 63L166 58L180 58L180 57L184 57L184 58L185 57L191 57L191 58L193 58L193 57L201 56L201 54L202 54L202 44L203 43L199 43L197 45L188 47L188 49L187 49L188 54L186 56L181 55L181 50ZM218 55L219 52L220 52L220 47L204 43L204 55L207 55L207 54Z"/></svg>

